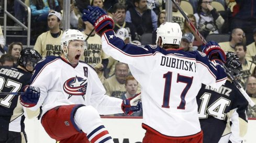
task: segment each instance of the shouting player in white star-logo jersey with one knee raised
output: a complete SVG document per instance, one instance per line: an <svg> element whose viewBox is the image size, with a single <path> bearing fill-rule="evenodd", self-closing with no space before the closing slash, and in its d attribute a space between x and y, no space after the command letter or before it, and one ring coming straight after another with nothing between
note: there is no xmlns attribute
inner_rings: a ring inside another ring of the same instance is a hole
<svg viewBox="0 0 256 143"><path fill-rule="evenodd" d="M42 106L41 124L60 143L113 142L99 114L131 114L141 109L140 104L131 107L130 99L105 95L96 71L79 61L87 48L80 31L65 30L61 47L60 57L48 56L38 62L21 104L33 111Z"/></svg>

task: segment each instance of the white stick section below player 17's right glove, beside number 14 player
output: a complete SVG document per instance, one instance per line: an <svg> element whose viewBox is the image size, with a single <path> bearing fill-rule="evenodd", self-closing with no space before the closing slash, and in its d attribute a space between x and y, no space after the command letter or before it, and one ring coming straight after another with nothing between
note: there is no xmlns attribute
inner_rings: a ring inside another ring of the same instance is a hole
<svg viewBox="0 0 256 143"><path fill-rule="evenodd" d="M252 101L250 96L246 93L246 91L242 88L241 84L237 82L237 80L229 73L228 68L223 64L222 65L225 69L226 74L229 76L229 78L233 81L233 83L237 86L241 94L243 95L244 98L249 102L249 105L253 107L255 103Z"/></svg>

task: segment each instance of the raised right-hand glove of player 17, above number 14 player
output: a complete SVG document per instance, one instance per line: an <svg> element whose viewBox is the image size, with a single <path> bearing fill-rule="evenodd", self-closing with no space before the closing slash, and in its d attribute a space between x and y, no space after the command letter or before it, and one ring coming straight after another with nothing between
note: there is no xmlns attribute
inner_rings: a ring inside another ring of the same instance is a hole
<svg viewBox="0 0 256 143"><path fill-rule="evenodd" d="M226 63L226 54L219 44L214 41L209 41L202 47L203 52L208 55L209 60L219 60L222 63Z"/></svg>

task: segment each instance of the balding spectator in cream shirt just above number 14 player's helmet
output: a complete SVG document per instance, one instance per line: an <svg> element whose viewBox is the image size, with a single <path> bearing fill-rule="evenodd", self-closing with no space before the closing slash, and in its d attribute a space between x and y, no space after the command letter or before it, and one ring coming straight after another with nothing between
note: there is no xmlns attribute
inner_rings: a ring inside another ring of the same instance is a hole
<svg viewBox="0 0 256 143"><path fill-rule="evenodd" d="M240 28L233 29L231 32L231 40L228 42L220 42L219 46L224 51L232 51L235 52L235 46L237 43L241 43L243 41L244 33L243 30Z"/></svg>

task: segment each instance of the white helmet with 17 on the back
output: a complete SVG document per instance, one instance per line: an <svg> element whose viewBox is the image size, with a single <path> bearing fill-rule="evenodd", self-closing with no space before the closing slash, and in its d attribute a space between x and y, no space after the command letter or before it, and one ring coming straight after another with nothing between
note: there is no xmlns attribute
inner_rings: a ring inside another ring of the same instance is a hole
<svg viewBox="0 0 256 143"><path fill-rule="evenodd" d="M157 44L158 38L162 38L163 44L180 45L182 38L181 26L174 22L164 22L157 29Z"/></svg>

